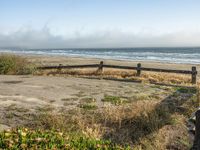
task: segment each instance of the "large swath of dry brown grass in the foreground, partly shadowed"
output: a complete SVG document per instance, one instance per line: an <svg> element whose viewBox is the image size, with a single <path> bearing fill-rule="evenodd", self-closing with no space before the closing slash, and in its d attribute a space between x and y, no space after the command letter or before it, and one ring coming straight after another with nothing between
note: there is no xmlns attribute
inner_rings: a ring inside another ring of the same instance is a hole
<svg viewBox="0 0 200 150"><path fill-rule="evenodd" d="M177 89L161 101L135 101L128 105L105 105L101 109L76 108L45 113L35 127L82 134L95 139L129 144L134 149L189 149L186 121L195 110L194 93ZM182 93L180 92L182 91Z"/></svg>

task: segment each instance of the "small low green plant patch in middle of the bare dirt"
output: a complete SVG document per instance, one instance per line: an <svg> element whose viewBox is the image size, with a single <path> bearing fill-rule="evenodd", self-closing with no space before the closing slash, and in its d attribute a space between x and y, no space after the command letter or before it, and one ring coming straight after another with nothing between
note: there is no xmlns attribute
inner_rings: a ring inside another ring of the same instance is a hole
<svg viewBox="0 0 200 150"><path fill-rule="evenodd" d="M102 102L110 102L111 104L115 104L115 105L121 105L121 104L130 102L127 99L123 99L118 96L111 96L111 95L105 95L104 99L102 99L101 101Z"/></svg>

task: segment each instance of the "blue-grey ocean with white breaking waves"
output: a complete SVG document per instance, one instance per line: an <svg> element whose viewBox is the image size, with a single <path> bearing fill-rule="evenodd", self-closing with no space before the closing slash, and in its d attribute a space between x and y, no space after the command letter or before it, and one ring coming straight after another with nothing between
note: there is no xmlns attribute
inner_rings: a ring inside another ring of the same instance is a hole
<svg viewBox="0 0 200 150"><path fill-rule="evenodd" d="M200 64L200 47L194 48L89 48L89 49L19 49L0 48L0 52L63 55L129 61Z"/></svg>

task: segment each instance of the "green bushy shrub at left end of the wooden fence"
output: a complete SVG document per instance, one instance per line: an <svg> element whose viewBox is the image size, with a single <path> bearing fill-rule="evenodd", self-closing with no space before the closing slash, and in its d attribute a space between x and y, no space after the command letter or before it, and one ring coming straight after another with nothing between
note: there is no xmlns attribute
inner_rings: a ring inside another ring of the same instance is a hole
<svg viewBox="0 0 200 150"><path fill-rule="evenodd" d="M33 64L15 55L0 55L0 74L32 74L36 71Z"/></svg>

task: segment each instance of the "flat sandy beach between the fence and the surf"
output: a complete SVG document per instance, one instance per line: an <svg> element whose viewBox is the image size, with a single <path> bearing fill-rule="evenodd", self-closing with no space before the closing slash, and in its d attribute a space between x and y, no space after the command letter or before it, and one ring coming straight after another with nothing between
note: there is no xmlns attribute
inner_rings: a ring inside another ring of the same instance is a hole
<svg viewBox="0 0 200 150"><path fill-rule="evenodd" d="M105 64L136 66L141 63L143 67L164 68L164 69L182 69L191 70L192 66L196 66L197 70L200 69L200 64L179 64L179 63L161 63L152 61L125 61L125 60L112 60L112 59L97 59L97 58L83 58L83 57L67 57L67 56L50 56L50 55L24 55L30 61L39 65L80 65L80 64L96 64L104 61Z"/></svg>

